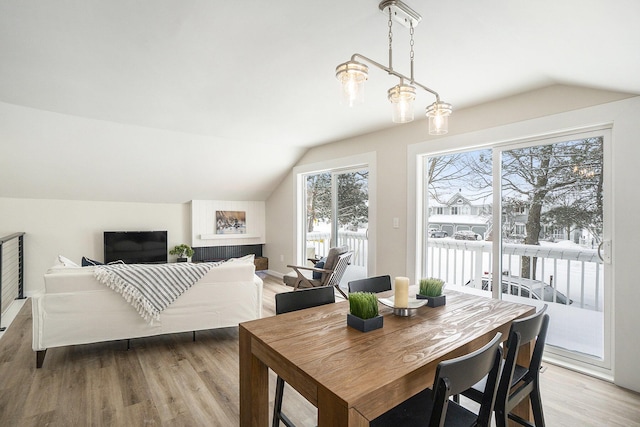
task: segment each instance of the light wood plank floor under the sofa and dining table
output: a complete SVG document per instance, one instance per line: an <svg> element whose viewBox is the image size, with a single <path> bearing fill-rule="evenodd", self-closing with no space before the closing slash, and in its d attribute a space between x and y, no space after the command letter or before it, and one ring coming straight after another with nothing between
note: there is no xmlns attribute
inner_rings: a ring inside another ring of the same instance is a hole
<svg viewBox="0 0 640 427"><path fill-rule="evenodd" d="M278 292L267 277L264 316ZM640 395L546 364L547 425L640 426ZM275 375L271 375L271 399ZM239 423L238 329L53 348L42 369L31 350L31 304L0 339L0 426L236 426ZM315 425L316 411L294 390L285 412Z"/></svg>

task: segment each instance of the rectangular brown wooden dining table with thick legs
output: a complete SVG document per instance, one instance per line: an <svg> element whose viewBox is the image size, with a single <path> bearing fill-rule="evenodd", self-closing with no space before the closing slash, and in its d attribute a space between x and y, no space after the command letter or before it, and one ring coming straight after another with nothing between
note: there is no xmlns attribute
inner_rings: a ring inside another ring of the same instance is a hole
<svg viewBox="0 0 640 427"><path fill-rule="evenodd" d="M271 368L318 408L318 426L368 426L431 387L440 361L472 352L498 332L506 340L514 319L535 313L529 305L446 295L446 305L407 317L379 304L383 327L365 333L347 326L346 301L241 323L240 425L269 424ZM531 419L523 403L518 413Z"/></svg>

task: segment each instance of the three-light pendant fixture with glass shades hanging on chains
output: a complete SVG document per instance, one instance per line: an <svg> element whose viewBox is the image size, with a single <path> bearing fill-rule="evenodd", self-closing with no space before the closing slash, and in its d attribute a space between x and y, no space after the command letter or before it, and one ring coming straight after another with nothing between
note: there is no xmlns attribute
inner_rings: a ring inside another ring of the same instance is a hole
<svg viewBox="0 0 640 427"><path fill-rule="evenodd" d="M369 78L369 65L373 65L388 74L396 76L400 82L388 90L387 98L392 107L392 120L395 123L408 123L413 120L413 102L416 99L416 88L425 90L435 96L436 100L429 105L426 115L429 119L429 134L443 135L448 131L449 116L453 108L440 100L437 92L425 85L418 83L413 78L413 31L422 17L409 6L399 0L384 0L378 6L382 12L389 16L389 66L384 66L366 56L354 53L351 59L336 67L336 78L341 83L342 103L353 107L364 100L364 83ZM410 66L411 75L407 77L393 69L393 21L399 22L409 28L410 39ZM364 63L367 64L364 64Z"/></svg>

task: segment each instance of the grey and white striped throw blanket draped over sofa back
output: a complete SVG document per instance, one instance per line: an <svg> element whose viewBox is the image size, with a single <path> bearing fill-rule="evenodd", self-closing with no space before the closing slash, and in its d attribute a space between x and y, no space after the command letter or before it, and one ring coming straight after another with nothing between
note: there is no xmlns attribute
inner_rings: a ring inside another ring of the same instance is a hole
<svg viewBox="0 0 640 427"><path fill-rule="evenodd" d="M150 323L200 278L221 263L99 265L96 279L115 290Z"/></svg>

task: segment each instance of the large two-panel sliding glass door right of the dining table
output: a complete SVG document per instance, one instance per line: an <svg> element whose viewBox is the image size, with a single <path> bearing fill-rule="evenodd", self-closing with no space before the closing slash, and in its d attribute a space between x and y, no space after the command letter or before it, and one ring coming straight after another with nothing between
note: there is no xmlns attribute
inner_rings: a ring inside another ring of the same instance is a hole
<svg viewBox="0 0 640 427"><path fill-rule="evenodd" d="M610 366L609 130L425 156L422 276L538 307L548 353Z"/></svg>

